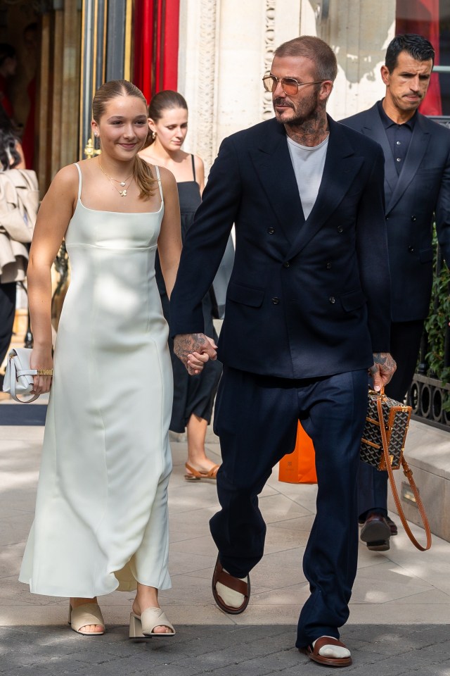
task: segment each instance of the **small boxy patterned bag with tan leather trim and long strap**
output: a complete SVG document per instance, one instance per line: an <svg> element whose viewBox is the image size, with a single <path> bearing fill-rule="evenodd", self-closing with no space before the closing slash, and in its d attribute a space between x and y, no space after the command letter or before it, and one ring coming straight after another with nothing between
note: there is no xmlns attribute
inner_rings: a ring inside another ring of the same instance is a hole
<svg viewBox="0 0 450 676"><path fill-rule="evenodd" d="M366 425L361 438L361 460L369 465L373 465L373 467L380 471L387 470L392 496L394 497L397 512L406 530L406 534L417 549L426 551L431 546L430 525L428 524L425 508L413 479L413 472L409 468L403 454L410 418L411 406L404 406L399 401L390 399L384 394L383 389L381 392L374 392L369 389ZM401 507L392 473L392 470L398 470L400 467L403 468L404 475L411 486L420 517L425 527L427 537L425 547L419 544L413 536Z"/></svg>

